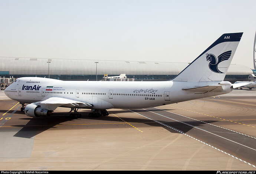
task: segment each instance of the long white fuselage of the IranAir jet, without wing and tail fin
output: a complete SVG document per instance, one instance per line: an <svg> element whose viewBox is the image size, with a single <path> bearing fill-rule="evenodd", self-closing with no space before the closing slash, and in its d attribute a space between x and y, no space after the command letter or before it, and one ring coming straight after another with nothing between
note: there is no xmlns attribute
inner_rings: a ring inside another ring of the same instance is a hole
<svg viewBox="0 0 256 174"><path fill-rule="evenodd" d="M218 84L218 82L176 81L60 81L24 77L8 86L5 94L21 103L34 103L50 97L59 97L92 104L91 109L132 109L167 105L231 91L230 86L220 92L196 93L182 90L188 86L196 86L198 83Z"/></svg>

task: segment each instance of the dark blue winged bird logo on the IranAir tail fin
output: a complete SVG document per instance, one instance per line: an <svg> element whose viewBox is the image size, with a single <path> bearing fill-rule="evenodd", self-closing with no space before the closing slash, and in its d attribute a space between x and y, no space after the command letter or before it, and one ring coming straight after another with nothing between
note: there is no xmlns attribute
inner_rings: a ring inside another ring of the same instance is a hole
<svg viewBox="0 0 256 174"><path fill-rule="evenodd" d="M209 63L210 70L216 73L223 73L218 69L218 65L220 62L224 60L228 60L231 56L231 52L232 52L231 50L224 52L221 55L219 55L218 58L216 58L213 54L206 54L206 60L210 61Z"/></svg>

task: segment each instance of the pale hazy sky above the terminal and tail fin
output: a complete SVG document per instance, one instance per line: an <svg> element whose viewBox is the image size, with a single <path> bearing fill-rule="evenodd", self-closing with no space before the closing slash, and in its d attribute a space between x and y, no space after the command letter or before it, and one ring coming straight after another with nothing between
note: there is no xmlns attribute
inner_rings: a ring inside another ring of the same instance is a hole
<svg viewBox="0 0 256 174"><path fill-rule="evenodd" d="M7 57L192 62L233 32L253 68L256 0L0 0Z"/></svg>

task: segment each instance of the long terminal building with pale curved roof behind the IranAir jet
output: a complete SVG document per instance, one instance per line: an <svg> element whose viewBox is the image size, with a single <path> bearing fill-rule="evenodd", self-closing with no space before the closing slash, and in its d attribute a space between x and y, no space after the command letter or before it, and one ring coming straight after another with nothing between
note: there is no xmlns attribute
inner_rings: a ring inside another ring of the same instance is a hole
<svg viewBox="0 0 256 174"><path fill-rule="evenodd" d="M98 80L101 80L104 74L126 74L127 78L134 78L135 81L167 81L173 79L188 65L189 63L179 62L0 57L0 76L11 76L16 79L25 76L48 78L49 75L52 79L95 81L96 74ZM231 64L224 80L233 83L253 79L255 75L252 69Z"/></svg>

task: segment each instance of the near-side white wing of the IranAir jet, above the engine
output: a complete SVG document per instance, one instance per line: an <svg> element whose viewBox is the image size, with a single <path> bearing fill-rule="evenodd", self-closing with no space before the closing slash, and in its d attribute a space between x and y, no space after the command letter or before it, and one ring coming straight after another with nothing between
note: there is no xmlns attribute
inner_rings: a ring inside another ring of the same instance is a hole
<svg viewBox="0 0 256 174"><path fill-rule="evenodd" d="M49 107L53 107L53 108L57 108L59 106L63 106L63 107L76 107L76 108L89 108L92 105L88 104L88 103L84 103L84 102L79 102L79 101L75 101L72 99L67 99L67 98L61 98L61 97L50 97L44 101L39 101L35 103L36 105L44 105L44 106L49 106Z"/></svg>

